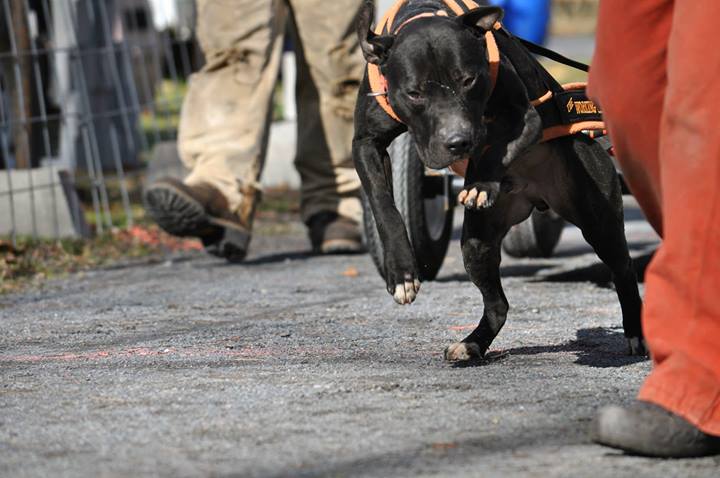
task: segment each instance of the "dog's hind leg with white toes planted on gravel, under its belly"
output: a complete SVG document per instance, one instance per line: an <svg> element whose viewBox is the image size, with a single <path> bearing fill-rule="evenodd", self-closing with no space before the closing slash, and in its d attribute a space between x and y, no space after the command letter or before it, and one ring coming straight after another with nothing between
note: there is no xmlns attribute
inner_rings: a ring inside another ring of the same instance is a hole
<svg viewBox="0 0 720 478"><path fill-rule="evenodd" d="M482 357L505 324L509 306L500 283L500 245L512 223L527 217L532 205L514 205L514 214L508 214L511 208L503 204L506 201L502 199L508 198L501 198L487 210L465 211L463 261L470 280L480 289L484 310L477 328L461 342L445 349L448 361ZM512 221L513 216L515 221Z"/></svg>

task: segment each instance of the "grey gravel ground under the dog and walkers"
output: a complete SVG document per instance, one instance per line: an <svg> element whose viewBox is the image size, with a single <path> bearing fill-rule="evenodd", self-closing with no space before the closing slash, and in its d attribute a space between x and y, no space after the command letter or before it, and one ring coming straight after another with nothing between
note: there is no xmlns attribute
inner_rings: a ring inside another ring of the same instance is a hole
<svg viewBox="0 0 720 478"><path fill-rule="evenodd" d="M642 266L655 237L634 216ZM589 441L650 364L625 355L577 230L552 259L504 262L508 323L464 367L442 358L482 312L457 241L405 308L368 256L306 249L294 224L239 266L190 254L0 297L0 475L720 474Z"/></svg>

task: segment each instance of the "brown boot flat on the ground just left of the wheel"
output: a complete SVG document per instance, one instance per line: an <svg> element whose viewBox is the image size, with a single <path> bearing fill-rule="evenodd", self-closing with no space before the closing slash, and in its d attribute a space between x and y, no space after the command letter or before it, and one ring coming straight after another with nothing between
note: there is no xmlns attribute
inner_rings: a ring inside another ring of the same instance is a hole
<svg viewBox="0 0 720 478"><path fill-rule="evenodd" d="M313 215L307 226L314 252L344 254L363 250L360 225L352 219L324 211Z"/></svg>

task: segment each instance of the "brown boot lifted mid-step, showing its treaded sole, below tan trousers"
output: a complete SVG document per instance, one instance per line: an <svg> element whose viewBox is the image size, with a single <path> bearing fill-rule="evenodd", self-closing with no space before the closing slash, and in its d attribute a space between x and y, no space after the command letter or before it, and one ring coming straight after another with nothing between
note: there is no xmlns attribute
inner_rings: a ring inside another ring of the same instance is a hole
<svg viewBox="0 0 720 478"><path fill-rule="evenodd" d="M255 202L251 194L233 213L214 186L189 186L172 178L159 179L145 191L145 207L161 228L174 236L197 237L207 252L230 262L247 254Z"/></svg>

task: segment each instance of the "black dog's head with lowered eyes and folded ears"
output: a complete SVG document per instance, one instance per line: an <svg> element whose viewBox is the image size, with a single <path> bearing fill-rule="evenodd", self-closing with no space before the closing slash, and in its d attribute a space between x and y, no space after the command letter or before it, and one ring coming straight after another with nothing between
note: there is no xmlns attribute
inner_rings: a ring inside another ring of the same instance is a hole
<svg viewBox="0 0 720 478"><path fill-rule="evenodd" d="M492 87L485 33L502 15L498 7L480 7L458 17L418 18L396 35L370 29L372 2L360 15L365 59L380 67L388 101L430 168L473 157L486 144Z"/></svg>

